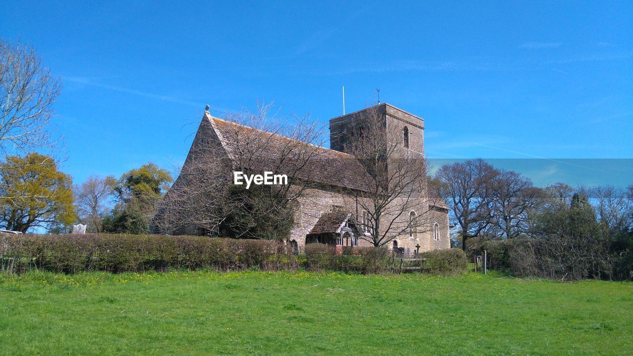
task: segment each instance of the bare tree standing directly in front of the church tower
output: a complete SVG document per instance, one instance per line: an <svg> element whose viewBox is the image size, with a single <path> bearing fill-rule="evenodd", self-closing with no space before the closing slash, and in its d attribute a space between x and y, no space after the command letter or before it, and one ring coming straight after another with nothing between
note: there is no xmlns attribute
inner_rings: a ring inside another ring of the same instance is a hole
<svg viewBox="0 0 633 356"><path fill-rule="evenodd" d="M365 170L346 172L354 174L359 189L345 189L344 195L351 196L359 210L365 229L361 239L378 247L430 230L431 207L438 198L427 194L424 156L405 147L403 129L389 125L376 106L355 120L352 132L343 133L345 151Z"/></svg>

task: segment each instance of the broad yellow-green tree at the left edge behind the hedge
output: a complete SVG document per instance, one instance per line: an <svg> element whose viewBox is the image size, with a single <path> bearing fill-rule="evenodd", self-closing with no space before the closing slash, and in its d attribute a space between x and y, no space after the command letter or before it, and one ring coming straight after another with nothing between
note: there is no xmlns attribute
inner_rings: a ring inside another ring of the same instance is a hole
<svg viewBox="0 0 633 356"><path fill-rule="evenodd" d="M72 178L58 170L51 156L7 156L0 165L0 177L0 224L4 229L59 229L75 221Z"/></svg>

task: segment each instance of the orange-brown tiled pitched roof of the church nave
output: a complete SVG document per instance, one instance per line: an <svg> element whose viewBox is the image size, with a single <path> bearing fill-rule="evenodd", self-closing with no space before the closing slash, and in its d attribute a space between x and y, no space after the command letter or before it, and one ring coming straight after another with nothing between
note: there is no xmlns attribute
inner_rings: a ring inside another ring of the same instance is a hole
<svg viewBox="0 0 633 356"><path fill-rule="evenodd" d="M342 188L351 188L363 190L361 182L354 179L360 174L367 174L365 167L358 162L358 160L348 153L334 151L333 149L327 149L320 146L314 146L308 143L302 143L294 139L290 139L279 134L272 134L269 132L263 132L261 130L253 129L252 127L239 125L234 122L222 120L220 118L211 117L207 115L210 120L213 129L218 134L223 148L227 150L229 156L233 156L235 151L240 148L243 142L239 142L239 137L261 137L265 136L266 148L265 151L255 153L253 163L261 165L261 167L251 167L273 170L276 163L279 160L291 161L292 155L298 155L297 162L304 164L304 167L300 167L296 170L296 177L298 179L305 179L308 181L319 182L328 184L330 186L338 186ZM306 153L306 156L301 156L301 149L299 148L311 147L312 150L303 149L303 151L310 151ZM290 157L287 157L290 156ZM289 160L289 158L291 158ZM255 163L256 162L256 163ZM270 167L273 166L273 167ZM346 172L348 174L346 174ZM277 174L284 174L284 172L275 172Z"/></svg>

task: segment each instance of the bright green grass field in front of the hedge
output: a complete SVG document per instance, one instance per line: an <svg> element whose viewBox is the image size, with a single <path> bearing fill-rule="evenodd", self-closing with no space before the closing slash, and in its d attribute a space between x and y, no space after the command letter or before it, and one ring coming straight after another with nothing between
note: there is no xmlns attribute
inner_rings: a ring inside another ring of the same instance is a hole
<svg viewBox="0 0 633 356"><path fill-rule="evenodd" d="M2 355L631 355L633 283L0 275Z"/></svg>

